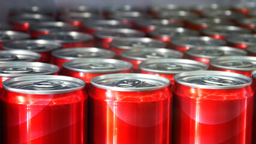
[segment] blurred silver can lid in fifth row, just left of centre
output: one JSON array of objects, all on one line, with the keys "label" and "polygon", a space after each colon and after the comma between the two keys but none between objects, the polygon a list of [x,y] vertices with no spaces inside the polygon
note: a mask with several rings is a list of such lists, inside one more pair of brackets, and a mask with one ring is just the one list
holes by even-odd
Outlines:
[{"label": "blurred silver can lid in fifth row, just left of centre", "polygon": [[127,38],[127,37],[144,37],[144,32],[136,31],[134,29],[103,29],[94,32],[94,36],[99,38]]}]

